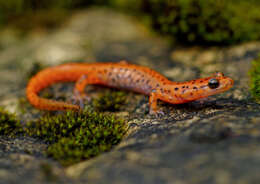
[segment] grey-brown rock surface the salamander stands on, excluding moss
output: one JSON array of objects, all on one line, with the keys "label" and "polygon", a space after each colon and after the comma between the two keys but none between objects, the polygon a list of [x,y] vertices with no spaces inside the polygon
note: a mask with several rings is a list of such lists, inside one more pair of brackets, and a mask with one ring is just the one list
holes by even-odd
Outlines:
[{"label": "grey-brown rock surface the salamander stands on, excluding moss", "polygon": [[[75,13],[63,27],[26,38],[0,33],[0,105],[21,115],[26,73],[33,63],[128,60],[177,81],[222,71],[234,87],[204,102],[160,103],[165,116],[148,115],[148,98],[130,93],[129,132],[112,151],[68,168],[42,155],[32,138],[0,139],[0,183],[230,184],[260,181],[260,105],[248,91],[248,69],[260,43],[225,48],[174,48],[137,20],[105,9]],[[95,88],[94,88],[95,89]],[[99,90],[99,88],[96,88]],[[92,90],[93,91],[93,90]],[[68,91],[71,94],[71,91]],[[92,92],[94,93],[94,92]]]}]

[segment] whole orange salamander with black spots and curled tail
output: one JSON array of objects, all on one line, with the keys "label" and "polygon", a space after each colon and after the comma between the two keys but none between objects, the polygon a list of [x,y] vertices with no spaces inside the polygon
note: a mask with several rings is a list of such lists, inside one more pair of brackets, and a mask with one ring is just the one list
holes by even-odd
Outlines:
[{"label": "whole orange salamander with black spots and curled tail", "polygon": [[[233,80],[221,72],[211,77],[188,82],[172,82],[158,72],[121,61],[119,63],[69,63],[44,69],[32,77],[26,88],[29,102],[42,110],[80,110],[82,107],[67,102],[41,98],[38,93],[57,82],[76,82],[74,95],[86,98],[84,88],[99,84],[149,95],[150,114],[162,113],[157,101],[182,104],[215,95],[230,89]],[[82,104],[82,103],[81,103]]]}]

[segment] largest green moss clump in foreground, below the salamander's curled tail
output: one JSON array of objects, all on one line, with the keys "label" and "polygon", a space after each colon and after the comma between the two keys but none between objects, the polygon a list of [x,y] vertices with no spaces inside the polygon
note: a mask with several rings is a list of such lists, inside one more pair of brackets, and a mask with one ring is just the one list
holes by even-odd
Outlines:
[{"label": "largest green moss clump in foreground, below the salamander's curled tail", "polygon": [[83,111],[47,115],[25,130],[48,142],[47,155],[67,166],[110,150],[124,136],[126,125],[114,116]]}]

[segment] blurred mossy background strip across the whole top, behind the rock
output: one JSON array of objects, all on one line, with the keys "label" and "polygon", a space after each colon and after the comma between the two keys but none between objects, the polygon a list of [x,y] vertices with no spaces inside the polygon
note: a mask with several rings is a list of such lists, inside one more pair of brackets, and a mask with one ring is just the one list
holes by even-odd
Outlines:
[{"label": "blurred mossy background strip across the whole top, behind the rock", "polygon": [[258,0],[1,0],[0,26],[53,29],[73,11],[93,6],[132,14],[182,44],[227,45],[260,38]]}]

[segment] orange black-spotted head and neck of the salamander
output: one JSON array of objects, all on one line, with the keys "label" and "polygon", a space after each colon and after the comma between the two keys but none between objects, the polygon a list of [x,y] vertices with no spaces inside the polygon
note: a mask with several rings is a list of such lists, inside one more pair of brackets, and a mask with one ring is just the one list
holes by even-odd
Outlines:
[{"label": "orange black-spotted head and neck of the salamander", "polygon": [[233,84],[234,81],[231,78],[225,77],[221,72],[216,72],[211,77],[168,85],[167,88],[171,88],[173,98],[162,100],[170,103],[185,103],[227,91]]}]

